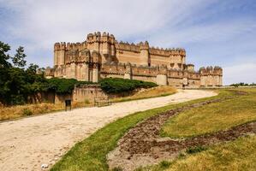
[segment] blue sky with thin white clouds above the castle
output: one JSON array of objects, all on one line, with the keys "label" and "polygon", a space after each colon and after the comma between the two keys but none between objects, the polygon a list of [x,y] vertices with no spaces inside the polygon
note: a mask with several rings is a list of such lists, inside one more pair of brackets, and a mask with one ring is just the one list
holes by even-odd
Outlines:
[{"label": "blue sky with thin white clouds above the castle", "polygon": [[223,83],[256,82],[256,0],[0,0],[0,41],[28,63],[53,66],[53,44],[89,32],[185,48],[196,69],[223,68]]}]

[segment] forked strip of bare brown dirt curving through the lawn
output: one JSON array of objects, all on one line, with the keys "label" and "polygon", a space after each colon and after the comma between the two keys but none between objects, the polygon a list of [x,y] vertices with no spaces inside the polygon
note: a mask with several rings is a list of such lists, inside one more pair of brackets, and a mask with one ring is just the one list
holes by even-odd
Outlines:
[{"label": "forked strip of bare brown dirt curving through the lawn", "polygon": [[208,103],[220,102],[231,97],[195,103],[179,109],[172,109],[163,114],[152,116],[130,129],[118,142],[118,147],[108,155],[110,168],[134,170],[176,157],[181,150],[191,147],[216,144],[237,139],[247,133],[256,133],[256,122],[233,127],[217,133],[205,134],[191,139],[160,138],[159,133],[164,122],[184,110],[203,106]]}]

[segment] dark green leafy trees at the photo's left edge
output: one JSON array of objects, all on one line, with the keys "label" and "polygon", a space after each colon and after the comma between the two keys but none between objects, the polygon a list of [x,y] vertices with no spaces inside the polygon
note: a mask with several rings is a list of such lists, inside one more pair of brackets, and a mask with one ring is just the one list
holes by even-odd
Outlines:
[{"label": "dark green leafy trees at the photo's left edge", "polygon": [[[19,47],[14,57],[9,56],[9,44],[0,42],[0,103],[22,104],[33,93],[43,91],[47,84],[43,74],[36,74],[37,65],[27,69],[24,49]],[[9,62],[12,59],[13,65]]]}]

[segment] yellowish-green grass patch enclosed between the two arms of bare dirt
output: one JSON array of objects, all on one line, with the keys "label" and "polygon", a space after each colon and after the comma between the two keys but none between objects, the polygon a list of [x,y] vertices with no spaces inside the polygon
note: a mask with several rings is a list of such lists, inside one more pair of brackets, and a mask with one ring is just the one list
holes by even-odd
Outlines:
[{"label": "yellowish-green grass patch enclosed between the two arms of bare dirt", "polygon": [[213,133],[256,120],[256,89],[247,95],[211,103],[174,116],[164,124],[163,136],[181,138]]}]

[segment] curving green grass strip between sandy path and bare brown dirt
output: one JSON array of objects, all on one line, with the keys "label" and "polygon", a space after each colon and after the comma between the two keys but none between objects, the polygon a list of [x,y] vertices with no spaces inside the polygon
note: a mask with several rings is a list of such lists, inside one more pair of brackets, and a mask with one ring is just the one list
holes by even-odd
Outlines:
[{"label": "curving green grass strip between sandy path and bare brown dirt", "polygon": [[199,103],[205,101],[206,99],[217,98],[230,94],[232,93],[229,91],[222,91],[216,97],[207,97],[187,103],[172,104],[162,108],[150,109],[135,113],[134,115],[123,117],[122,119],[114,121],[102,129],[99,129],[89,138],[75,144],[74,147],[51,168],[51,171],[108,170],[106,155],[110,152],[110,150],[114,150],[118,139],[122,138],[122,135],[126,133],[129,128],[134,127],[139,121],[149,118],[152,115],[158,115],[159,113],[168,109],[175,109],[188,104]]}]

